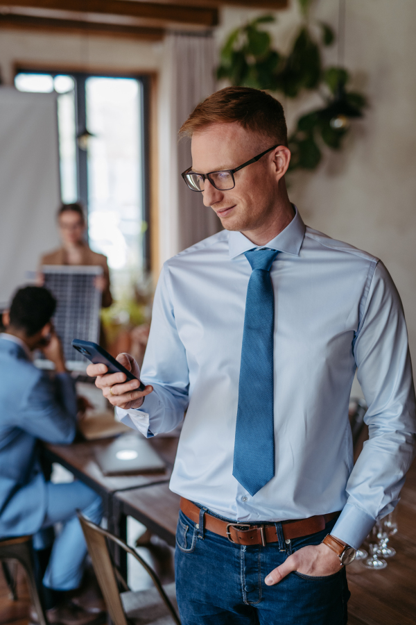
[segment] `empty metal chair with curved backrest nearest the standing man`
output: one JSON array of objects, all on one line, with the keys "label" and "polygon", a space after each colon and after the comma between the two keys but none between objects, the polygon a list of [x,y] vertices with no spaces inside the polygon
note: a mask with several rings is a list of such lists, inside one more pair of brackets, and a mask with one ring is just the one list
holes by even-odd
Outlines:
[{"label": "empty metal chair with curved backrest nearest the standing man", "polygon": [[[128,544],[92,523],[80,512],[78,519],[114,625],[180,625],[180,619],[173,607],[173,603],[176,605],[175,583],[163,587],[153,569]],[[136,558],[152,578],[155,587],[132,592],[112,562],[107,541],[114,542]],[[125,592],[120,592],[120,588]]]}]

